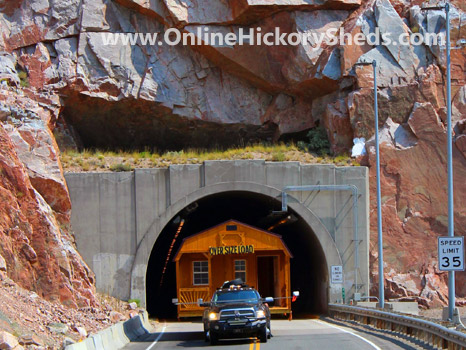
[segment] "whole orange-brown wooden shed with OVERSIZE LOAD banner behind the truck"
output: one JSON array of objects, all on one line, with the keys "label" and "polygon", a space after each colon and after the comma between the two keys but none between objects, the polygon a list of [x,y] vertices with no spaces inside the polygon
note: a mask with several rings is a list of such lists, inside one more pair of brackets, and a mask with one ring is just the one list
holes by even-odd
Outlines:
[{"label": "whole orange-brown wooden shed with OVERSIZE LOAD banner behind the truck", "polygon": [[[178,317],[202,316],[195,303],[207,301],[223,282],[241,278],[262,297],[291,295],[290,258],[280,235],[230,220],[183,240],[174,261]],[[291,300],[277,299],[272,313],[291,312]]]}]

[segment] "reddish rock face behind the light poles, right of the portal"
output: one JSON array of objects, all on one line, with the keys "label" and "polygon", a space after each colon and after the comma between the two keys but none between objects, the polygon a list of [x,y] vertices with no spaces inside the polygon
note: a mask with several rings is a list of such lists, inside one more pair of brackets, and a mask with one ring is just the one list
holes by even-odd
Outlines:
[{"label": "reddish rock face behind the light poles, right of the portal", "polygon": [[[403,133],[411,136],[410,145],[403,146],[406,139]],[[389,296],[419,297],[425,299],[424,305],[440,305],[448,298],[446,285],[441,283],[446,281],[447,274],[438,270],[437,263],[437,237],[447,235],[445,128],[430,103],[416,104],[407,125],[396,126],[391,135],[395,141],[381,145],[385,278],[390,288]],[[403,147],[403,150],[397,150],[397,147]],[[429,155],[428,159],[426,155]],[[373,147],[369,159],[374,165]],[[466,159],[454,148],[453,161],[455,232],[461,235],[466,224]],[[371,166],[370,186],[375,192],[375,171],[372,169]],[[375,201],[376,198],[371,199],[374,211]],[[377,249],[376,242],[377,217],[372,215],[373,252]],[[405,273],[404,281],[400,276],[396,277],[399,273]],[[462,283],[464,275],[464,272],[457,273],[456,293],[459,297],[466,296]],[[424,279],[426,282],[422,282]],[[410,281],[411,287],[406,281]],[[374,287],[374,292],[376,290]]]}]

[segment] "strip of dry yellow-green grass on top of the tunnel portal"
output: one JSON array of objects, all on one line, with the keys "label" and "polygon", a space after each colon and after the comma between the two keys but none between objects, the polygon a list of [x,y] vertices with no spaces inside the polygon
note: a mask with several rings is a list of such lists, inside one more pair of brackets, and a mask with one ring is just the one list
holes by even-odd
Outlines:
[{"label": "strip of dry yellow-green grass on top of the tunnel portal", "polygon": [[172,164],[202,164],[208,160],[264,159],[272,162],[298,161],[304,164],[359,165],[348,155],[318,156],[294,144],[257,144],[227,150],[189,149],[162,154],[145,151],[66,150],[60,156],[67,172],[131,171],[138,168],[166,168]]}]

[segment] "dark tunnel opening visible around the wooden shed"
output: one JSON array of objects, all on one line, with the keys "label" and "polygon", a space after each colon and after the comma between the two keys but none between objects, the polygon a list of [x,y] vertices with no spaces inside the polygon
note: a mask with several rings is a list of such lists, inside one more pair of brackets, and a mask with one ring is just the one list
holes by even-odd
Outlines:
[{"label": "dark tunnel opening visible around the wooden shed", "polygon": [[[155,242],[147,266],[146,300],[150,315],[162,319],[176,318],[176,306],[172,303],[176,298],[173,258],[183,239],[230,219],[263,230],[270,229],[270,232],[282,236],[293,254],[291,290],[300,291],[300,298],[293,304],[293,315],[325,312],[328,270],[322,247],[312,228],[291,208],[286,214],[273,213],[280,208],[281,202],[275,198],[233,191],[204,197],[175,215]],[[270,261],[264,261],[266,263],[270,264]]]}]

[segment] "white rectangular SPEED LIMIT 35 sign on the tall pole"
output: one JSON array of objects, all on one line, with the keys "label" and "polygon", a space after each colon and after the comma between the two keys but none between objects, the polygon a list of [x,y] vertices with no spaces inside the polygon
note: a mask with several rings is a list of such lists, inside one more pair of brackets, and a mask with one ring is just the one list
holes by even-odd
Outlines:
[{"label": "white rectangular SPEED LIMIT 35 sign on the tall pole", "polygon": [[464,237],[438,238],[440,271],[464,271]]}]

